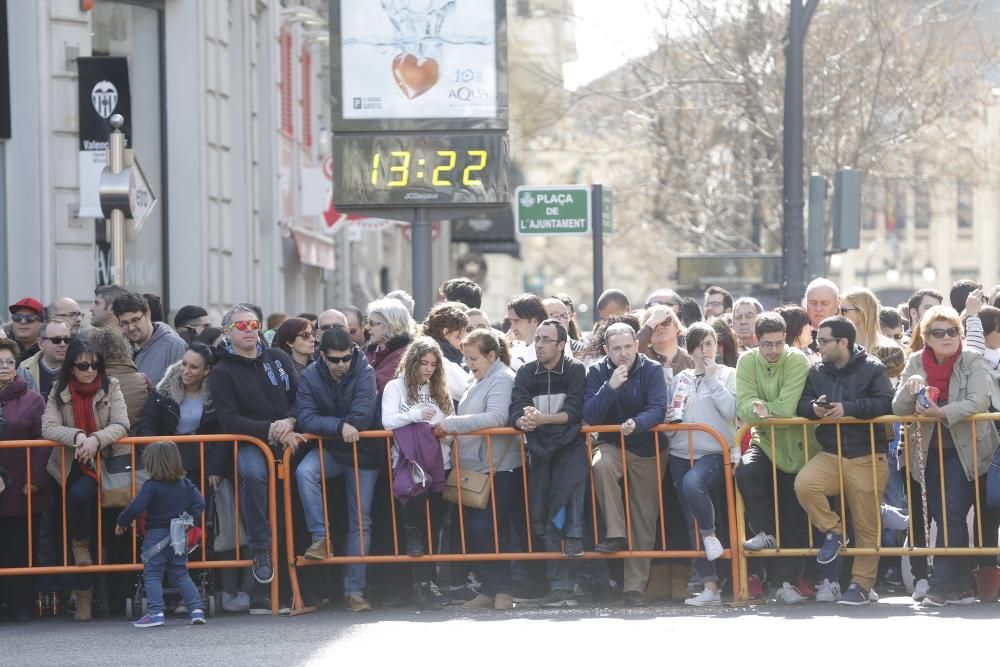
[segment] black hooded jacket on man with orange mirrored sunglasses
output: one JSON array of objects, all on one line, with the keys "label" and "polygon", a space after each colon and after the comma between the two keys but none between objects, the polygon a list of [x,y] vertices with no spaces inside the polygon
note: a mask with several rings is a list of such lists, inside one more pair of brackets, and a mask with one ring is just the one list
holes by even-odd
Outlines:
[{"label": "black hooded jacket on man with orange mirrored sunglasses", "polygon": [[295,364],[285,352],[261,343],[253,359],[233,353],[228,342],[217,352],[219,361],[208,376],[208,388],[222,432],[267,442],[272,422],[296,416]]}]

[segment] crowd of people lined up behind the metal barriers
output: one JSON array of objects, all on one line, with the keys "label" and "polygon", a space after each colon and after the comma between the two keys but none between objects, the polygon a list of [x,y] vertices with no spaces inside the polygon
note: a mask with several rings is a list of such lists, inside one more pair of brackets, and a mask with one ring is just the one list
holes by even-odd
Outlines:
[{"label": "crowd of people lined up behind the metal barriers", "polygon": [[[588,596],[641,605],[649,558],[579,557],[659,549],[703,552],[691,564],[685,602],[714,606],[726,579],[716,561],[726,547],[806,547],[810,525],[818,556],[751,559],[751,592],[787,604],[862,605],[877,600],[876,584],[898,576],[900,563],[870,555],[843,563],[845,545],[890,544],[912,522],[917,529],[908,533],[922,546],[933,522],[937,546],[969,546],[966,519],[975,511],[982,539],[977,533],[974,544],[997,546],[1000,512],[987,507],[985,493],[1000,437],[994,423],[968,417],[1000,408],[1000,288],[986,295],[982,285],[959,281],[947,303],[921,289],[892,307],[865,288],[841,292],[817,279],[801,305],[774,310],[719,287],[701,303],[658,289],[641,308],[608,290],[588,333],[567,295],[517,295],[494,319],[471,280],[446,281],[438,297],[422,322],[413,319],[413,299],[395,291],[363,309],[297,317],[265,319],[258,306],[241,303],[220,327],[199,306],[180,308],[171,326],[155,295],[116,285],[96,290],[86,324],[72,299],[44,308],[21,299],[0,339],[0,438],[57,446],[27,455],[0,448],[0,568],[129,562],[128,527],[138,509],[120,512],[128,501],[141,498],[158,517],[147,521],[145,545],[163,538],[164,513],[200,514],[201,494],[211,498],[236,482],[253,566],[242,583],[239,572],[219,575],[222,607],[270,611],[265,585],[286,568],[271,558],[273,471],[261,449],[241,442],[234,460],[231,445],[181,446],[180,468],[174,452],[154,450],[147,469],[158,472],[143,488],[165,504],[147,507],[151,490],[109,509],[105,491],[102,508],[97,454],[131,456],[130,446],[116,444],[129,434],[252,436],[275,459],[291,449],[296,553],[309,560],[516,553],[529,544],[562,555],[448,567],[427,559],[355,563],[336,581],[328,567],[300,570],[313,579],[304,587],[313,602],[339,596],[350,611],[373,601],[509,609],[524,597],[547,607]],[[886,415],[938,421],[908,434],[898,424],[761,426],[734,442],[741,424],[771,418]],[[653,430],[663,423],[706,425],[724,442],[706,431]],[[588,447],[583,425],[616,429]],[[504,426],[524,434],[523,452],[519,436],[477,433]],[[384,440],[363,437],[372,429],[393,432],[388,456]],[[727,540],[727,463],[746,508],[750,539],[742,546]],[[190,484],[179,485],[181,468]],[[843,501],[831,503],[841,493]],[[99,512],[112,512],[101,539]],[[147,561],[145,548],[146,592],[151,602],[161,599],[142,627],[159,624],[159,582],[184,562],[156,554]],[[933,568],[912,558],[910,567],[914,600],[924,605],[996,598],[993,557],[937,556]],[[379,576],[369,580],[370,568]],[[61,592],[75,601],[77,620],[90,620],[127,597],[127,579],[108,578],[3,577],[0,614],[27,620],[36,595]],[[186,608],[203,622],[189,583],[181,582]],[[287,582],[279,589],[285,606]]]}]

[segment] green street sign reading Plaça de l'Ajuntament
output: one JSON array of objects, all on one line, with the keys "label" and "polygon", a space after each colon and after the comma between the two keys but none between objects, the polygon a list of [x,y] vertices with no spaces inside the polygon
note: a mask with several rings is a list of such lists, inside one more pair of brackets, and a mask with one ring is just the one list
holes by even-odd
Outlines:
[{"label": "green street sign reading Pla\u00e7a de l'Ajuntament", "polygon": [[523,185],[514,191],[521,236],[581,236],[590,233],[590,188],[586,185]]}]

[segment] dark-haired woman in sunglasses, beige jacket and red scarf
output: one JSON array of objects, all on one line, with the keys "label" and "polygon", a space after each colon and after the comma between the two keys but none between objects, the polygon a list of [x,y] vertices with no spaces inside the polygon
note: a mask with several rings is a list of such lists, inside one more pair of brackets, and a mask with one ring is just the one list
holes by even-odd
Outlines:
[{"label": "dark-haired woman in sunglasses, beige jacket and red scarf", "polygon": [[[73,560],[92,565],[91,535],[97,507],[97,453],[128,454],[114,443],[128,435],[128,408],[118,380],[108,377],[104,355],[85,340],[66,352],[58,381],[42,416],[42,437],[62,445],[52,450],[48,471],[66,489],[66,530],[73,540]],[[80,576],[76,620],[91,619],[93,577]]]}]

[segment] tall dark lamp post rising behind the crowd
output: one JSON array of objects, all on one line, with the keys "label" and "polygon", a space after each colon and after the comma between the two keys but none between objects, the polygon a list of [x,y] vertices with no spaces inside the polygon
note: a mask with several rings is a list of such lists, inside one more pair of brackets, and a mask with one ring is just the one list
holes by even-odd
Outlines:
[{"label": "tall dark lamp post rising behind the crowd", "polygon": [[788,16],[788,46],[785,49],[785,120],[782,167],[781,296],[798,301],[805,293],[805,221],[802,198],[802,79],[806,31],[819,0],[791,0]]}]

